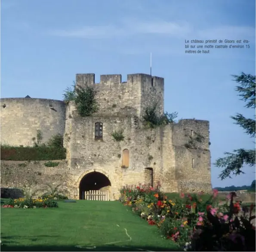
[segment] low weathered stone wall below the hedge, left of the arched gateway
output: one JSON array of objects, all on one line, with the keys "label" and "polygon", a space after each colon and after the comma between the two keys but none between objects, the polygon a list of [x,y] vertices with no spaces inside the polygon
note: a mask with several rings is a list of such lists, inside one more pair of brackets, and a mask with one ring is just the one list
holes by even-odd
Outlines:
[{"label": "low weathered stone wall below the hedge, left of the arched gateway", "polygon": [[65,160],[55,160],[59,165],[46,167],[49,161],[1,161],[1,188],[19,188],[39,196],[49,190],[47,184],[59,185],[69,197],[74,197],[76,187],[73,174]]}]

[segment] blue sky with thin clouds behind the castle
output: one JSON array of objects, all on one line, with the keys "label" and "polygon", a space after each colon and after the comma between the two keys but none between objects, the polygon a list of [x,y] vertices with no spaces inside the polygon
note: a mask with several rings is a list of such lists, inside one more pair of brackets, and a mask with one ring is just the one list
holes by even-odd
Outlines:
[{"label": "blue sky with thin clouds behind the castle", "polygon": [[[250,49],[185,54],[185,39],[247,39]],[[253,139],[230,115],[253,117],[232,74],[255,75],[255,0],[2,0],[1,97],[62,99],[76,73],[165,78],[165,110],[210,121],[212,162]],[[255,167],[213,186],[250,185]]]}]

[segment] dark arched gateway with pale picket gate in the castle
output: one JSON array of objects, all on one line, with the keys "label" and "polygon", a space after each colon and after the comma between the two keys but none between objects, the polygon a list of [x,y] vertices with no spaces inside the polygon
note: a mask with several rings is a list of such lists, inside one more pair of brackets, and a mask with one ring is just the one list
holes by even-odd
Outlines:
[{"label": "dark arched gateway with pale picket gate in the castle", "polygon": [[80,176],[80,200],[110,200],[111,182],[102,171],[90,170]]}]

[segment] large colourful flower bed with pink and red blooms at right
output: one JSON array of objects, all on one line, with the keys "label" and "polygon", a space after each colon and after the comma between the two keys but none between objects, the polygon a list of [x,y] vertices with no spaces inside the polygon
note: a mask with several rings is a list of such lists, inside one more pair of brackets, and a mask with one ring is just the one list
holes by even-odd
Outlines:
[{"label": "large colourful flower bed with pink and red blooms at right", "polygon": [[202,200],[203,193],[181,194],[172,200],[160,191],[160,184],[139,185],[123,188],[120,201],[185,251],[255,251],[253,205],[241,209],[241,202],[234,202],[235,193],[220,204],[217,194],[213,190],[207,200]]}]

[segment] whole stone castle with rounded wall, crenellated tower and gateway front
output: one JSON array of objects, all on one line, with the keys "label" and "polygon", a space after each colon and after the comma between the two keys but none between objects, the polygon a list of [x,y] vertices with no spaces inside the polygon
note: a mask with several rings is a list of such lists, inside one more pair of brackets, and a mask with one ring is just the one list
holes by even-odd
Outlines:
[{"label": "whole stone castle with rounded wall, crenellated tower and gateway front", "polygon": [[[156,128],[142,123],[145,109],[154,102],[157,113],[163,114],[163,78],[129,74],[122,82],[121,75],[102,75],[95,83],[94,74],[77,74],[76,85],[97,91],[99,110],[92,116],[80,117],[73,102],[1,99],[1,144],[32,146],[37,130],[43,142],[61,134],[67,157],[50,173],[68,174],[74,198],[106,188],[114,200],[123,185],[139,183],[160,182],[165,192],[211,190],[209,121],[182,119]],[[112,136],[118,131],[123,132],[122,141]],[[40,162],[30,165],[43,170]]]}]

